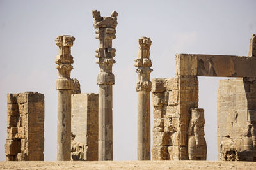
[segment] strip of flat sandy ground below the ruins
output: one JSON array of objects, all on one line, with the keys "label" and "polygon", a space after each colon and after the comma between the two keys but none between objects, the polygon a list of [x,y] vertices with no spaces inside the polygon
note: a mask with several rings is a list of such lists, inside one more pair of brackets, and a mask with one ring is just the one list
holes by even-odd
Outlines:
[{"label": "strip of flat sandy ground below the ruins", "polygon": [[256,162],[0,162],[0,169],[256,169]]}]

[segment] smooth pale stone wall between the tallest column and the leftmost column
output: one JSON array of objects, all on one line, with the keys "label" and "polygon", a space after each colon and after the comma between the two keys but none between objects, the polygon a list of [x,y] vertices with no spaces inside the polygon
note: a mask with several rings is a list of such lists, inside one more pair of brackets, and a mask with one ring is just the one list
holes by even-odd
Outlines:
[{"label": "smooth pale stone wall between the tallest column and the leftmost column", "polygon": [[98,160],[98,94],[71,95],[72,160]]}]

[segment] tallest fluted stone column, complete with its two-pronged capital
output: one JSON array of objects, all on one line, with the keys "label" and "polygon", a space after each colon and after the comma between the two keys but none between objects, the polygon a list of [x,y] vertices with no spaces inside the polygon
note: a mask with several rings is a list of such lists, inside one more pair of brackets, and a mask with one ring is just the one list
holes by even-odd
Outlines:
[{"label": "tallest fluted stone column, complete with its two-pronged capital", "polygon": [[100,40],[96,50],[96,63],[100,73],[97,76],[99,85],[99,161],[113,160],[113,126],[112,126],[112,85],[115,83],[112,65],[115,63],[115,48],[112,48],[112,39],[115,39],[117,15],[101,17],[97,10],[92,11],[93,26],[96,29],[96,39]]}]

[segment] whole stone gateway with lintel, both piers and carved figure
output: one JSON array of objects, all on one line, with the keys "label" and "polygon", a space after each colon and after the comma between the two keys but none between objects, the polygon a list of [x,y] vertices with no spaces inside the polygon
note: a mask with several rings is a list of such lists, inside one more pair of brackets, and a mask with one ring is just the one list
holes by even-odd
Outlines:
[{"label": "whole stone gateway with lintel, both piers and carved figure", "polygon": [[255,41],[248,57],[177,54],[175,78],[152,79],[153,160],[206,160],[197,76],[238,77],[219,83],[219,160],[256,160]]}]

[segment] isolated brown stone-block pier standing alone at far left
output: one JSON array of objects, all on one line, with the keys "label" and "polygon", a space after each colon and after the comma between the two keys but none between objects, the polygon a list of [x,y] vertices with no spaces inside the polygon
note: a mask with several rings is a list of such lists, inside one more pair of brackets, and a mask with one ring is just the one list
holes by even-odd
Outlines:
[{"label": "isolated brown stone-block pier standing alone at far left", "polygon": [[44,95],[7,94],[6,160],[44,160]]}]

